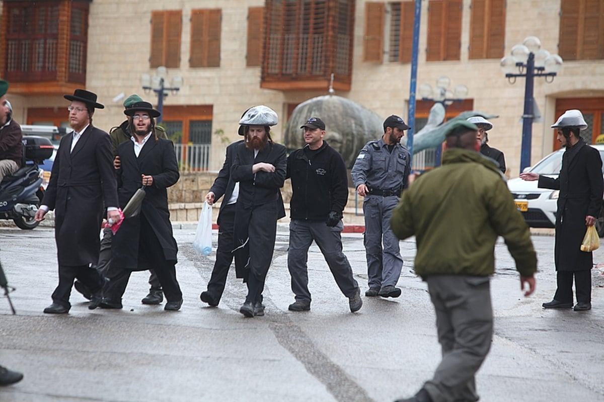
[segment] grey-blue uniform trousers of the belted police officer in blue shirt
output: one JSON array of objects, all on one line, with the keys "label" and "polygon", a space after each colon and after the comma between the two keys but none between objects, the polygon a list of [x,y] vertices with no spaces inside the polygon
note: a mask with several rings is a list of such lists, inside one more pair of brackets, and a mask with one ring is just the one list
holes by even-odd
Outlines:
[{"label": "grey-blue uniform trousers of the belted police officer in blue shirt", "polygon": [[396,286],[399,281],[403,258],[400,256],[399,239],[390,229],[392,211],[398,203],[398,197],[382,196],[368,196],[363,202],[369,287]]}]

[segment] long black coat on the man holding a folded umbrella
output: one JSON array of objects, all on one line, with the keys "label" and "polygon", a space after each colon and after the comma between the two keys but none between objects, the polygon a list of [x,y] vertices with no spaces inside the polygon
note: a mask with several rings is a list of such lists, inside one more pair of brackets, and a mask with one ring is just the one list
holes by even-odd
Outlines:
[{"label": "long black coat on the man holding a folded umbrella", "polygon": [[149,222],[159,240],[164,257],[176,261],[178,246],[172,234],[167,188],[178,182],[178,162],[172,141],[150,136],[141,153],[134,153],[134,143],[126,141],[117,148],[121,166],[118,169],[118,197],[123,209],[143,185],[141,175],[153,176],[153,184],[145,188],[146,196],[138,215],[124,219],[112,243],[112,264],[130,270],[149,269],[149,261],[139,255],[141,215]]}]

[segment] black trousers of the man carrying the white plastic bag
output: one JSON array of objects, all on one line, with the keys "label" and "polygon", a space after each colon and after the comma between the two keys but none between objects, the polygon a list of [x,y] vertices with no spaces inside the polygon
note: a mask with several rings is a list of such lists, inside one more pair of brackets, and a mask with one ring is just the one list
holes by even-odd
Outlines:
[{"label": "black trousers of the man carrying the white plastic bag", "polygon": [[219,302],[225,290],[226,276],[233,263],[233,230],[235,225],[235,205],[225,205],[220,211],[220,228],[218,231],[218,247],[216,249],[216,262],[212,269],[208,292]]}]

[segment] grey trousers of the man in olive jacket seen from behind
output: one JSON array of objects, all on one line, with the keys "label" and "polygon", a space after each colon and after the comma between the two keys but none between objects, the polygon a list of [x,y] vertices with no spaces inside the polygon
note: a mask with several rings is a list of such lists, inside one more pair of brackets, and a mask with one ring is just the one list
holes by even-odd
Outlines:
[{"label": "grey trousers of the man in olive jacket seen from behind", "polygon": [[477,401],[474,375],[489,354],[493,337],[489,277],[429,275],[425,281],[443,359],[423,388],[434,402]]}]

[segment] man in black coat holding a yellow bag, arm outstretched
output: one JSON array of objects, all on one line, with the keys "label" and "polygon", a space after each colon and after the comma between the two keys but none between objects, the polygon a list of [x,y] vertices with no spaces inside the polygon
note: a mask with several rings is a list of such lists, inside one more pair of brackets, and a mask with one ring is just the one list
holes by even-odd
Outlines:
[{"label": "man in black coat holding a yellow bag, arm outstretched", "polygon": [[566,151],[556,179],[537,173],[521,173],[521,179],[539,180],[539,187],[560,190],[556,213],[557,289],[554,299],[544,308],[573,307],[573,276],[577,296],[575,311],[591,309],[591,252],[580,250],[587,226],[593,226],[602,208],[602,159],[579,135],[587,124],[579,110],[567,110],[554,124],[557,140]]}]

